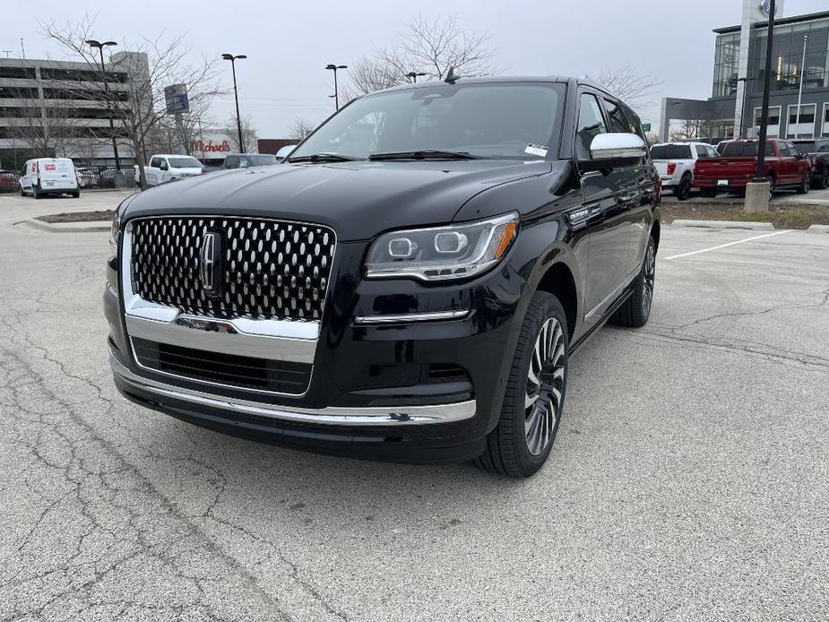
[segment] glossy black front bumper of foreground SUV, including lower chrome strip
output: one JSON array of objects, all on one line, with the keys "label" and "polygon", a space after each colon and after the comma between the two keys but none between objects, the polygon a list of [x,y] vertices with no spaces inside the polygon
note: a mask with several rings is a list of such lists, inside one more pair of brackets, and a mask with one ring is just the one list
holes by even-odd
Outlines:
[{"label": "glossy black front bumper of foreground SUV, including lower chrome strip", "polygon": [[[359,273],[365,252],[366,243],[338,246],[324,319],[307,354],[313,372],[307,391],[297,395],[217,387],[139,367],[131,344],[135,323],[125,317],[122,292],[108,285],[104,307],[118,390],[206,428],[311,451],[394,462],[479,455],[500,415],[520,328],[522,277],[505,262],[461,285],[367,281]],[[110,283],[118,282],[116,265],[108,264]],[[427,378],[446,365],[462,368],[466,379]]]}]

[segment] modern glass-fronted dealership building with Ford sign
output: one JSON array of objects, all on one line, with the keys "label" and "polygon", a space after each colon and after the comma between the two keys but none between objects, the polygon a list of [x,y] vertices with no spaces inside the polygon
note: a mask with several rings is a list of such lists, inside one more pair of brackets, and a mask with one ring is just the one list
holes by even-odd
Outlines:
[{"label": "modern glass-fronted dealership building with Ford sign", "polygon": [[[742,27],[714,30],[712,96],[709,99],[662,100],[661,138],[669,125],[694,119],[704,136],[753,138],[758,132],[763,100],[768,23],[756,22],[749,37]],[[748,42],[741,71],[740,48]],[[804,56],[805,48],[805,56]],[[743,73],[743,75],[741,75]],[[803,85],[798,115],[800,85]],[[829,12],[778,18],[774,26],[769,136],[829,137]]]}]

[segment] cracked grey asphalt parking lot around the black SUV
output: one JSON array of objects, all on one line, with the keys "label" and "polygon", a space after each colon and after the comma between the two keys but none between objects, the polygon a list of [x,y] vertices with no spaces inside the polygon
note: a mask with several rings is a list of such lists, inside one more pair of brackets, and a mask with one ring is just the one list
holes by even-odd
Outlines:
[{"label": "cracked grey asphalt parking lot around the black SUV", "polygon": [[107,234],[13,224],[116,203],[0,195],[0,620],[829,618],[829,235],[665,227],[514,481],[120,398]]}]

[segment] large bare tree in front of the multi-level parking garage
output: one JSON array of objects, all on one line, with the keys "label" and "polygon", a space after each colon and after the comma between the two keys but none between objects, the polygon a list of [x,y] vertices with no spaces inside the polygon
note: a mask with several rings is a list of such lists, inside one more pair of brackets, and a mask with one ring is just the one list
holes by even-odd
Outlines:
[{"label": "large bare tree in front of the multi-level parking garage", "polygon": [[[188,64],[190,48],[180,37],[125,42],[123,45],[130,53],[113,55],[109,68],[102,70],[95,50],[86,44],[93,38],[94,22],[89,16],[63,27],[55,22],[43,22],[40,26],[48,38],[88,65],[94,79],[67,87],[82,91],[83,99],[97,100],[111,111],[117,119],[117,136],[132,148],[142,187],[147,186],[143,167],[145,143],[167,115],[164,87],[185,84],[191,106],[206,104],[222,92],[215,61],[203,58],[196,65]],[[114,72],[127,77],[109,88]]]}]

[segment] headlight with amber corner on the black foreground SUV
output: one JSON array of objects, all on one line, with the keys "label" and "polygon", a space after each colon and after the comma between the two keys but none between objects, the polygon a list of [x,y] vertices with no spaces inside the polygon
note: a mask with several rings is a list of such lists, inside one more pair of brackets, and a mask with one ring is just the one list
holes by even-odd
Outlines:
[{"label": "headlight with amber corner on the black foreground SUV", "polygon": [[518,214],[434,229],[384,233],[368,250],[369,279],[463,279],[486,272],[506,254],[518,232]]}]

